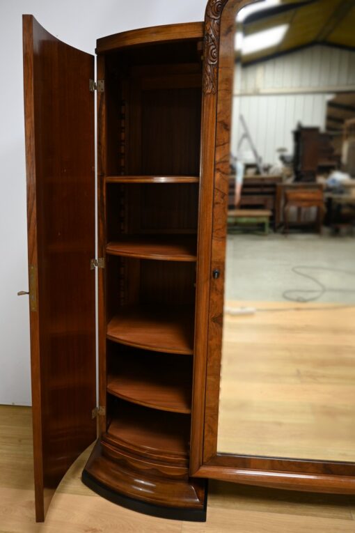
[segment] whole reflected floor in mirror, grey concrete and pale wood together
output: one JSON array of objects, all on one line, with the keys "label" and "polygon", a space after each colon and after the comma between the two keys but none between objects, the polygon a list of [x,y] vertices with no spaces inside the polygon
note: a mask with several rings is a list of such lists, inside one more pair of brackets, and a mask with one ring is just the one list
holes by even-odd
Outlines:
[{"label": "whole reflected floor in mirror, grey concrete and pale wood together", "polygon": [[218,451],[355,461],[354,239],[228,235],[227,257]]}]

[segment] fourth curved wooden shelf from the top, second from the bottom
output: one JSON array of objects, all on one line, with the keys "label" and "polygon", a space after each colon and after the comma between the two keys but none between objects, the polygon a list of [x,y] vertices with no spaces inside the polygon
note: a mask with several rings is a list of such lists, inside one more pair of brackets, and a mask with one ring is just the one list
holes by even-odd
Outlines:
[{"label": "fourth curved wooden shelf from the top, second from the bottom", "polygon": [[153,409],[191,413],[192,365],[189,357],[123,354],[112,364],[107,392]]}]

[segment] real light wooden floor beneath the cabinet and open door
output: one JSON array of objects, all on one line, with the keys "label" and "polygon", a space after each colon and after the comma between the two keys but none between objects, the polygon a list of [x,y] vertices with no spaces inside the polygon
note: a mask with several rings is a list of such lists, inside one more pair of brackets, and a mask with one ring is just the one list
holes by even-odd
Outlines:
[{"label": "real light wooden floor beneath the cabinet and open door", "polygon": [[210,482],[207,523],[143,516],[81,484],[87,450],[34,521],[31,410],[0,406],[0,533],[355,533],[355,499]]}]

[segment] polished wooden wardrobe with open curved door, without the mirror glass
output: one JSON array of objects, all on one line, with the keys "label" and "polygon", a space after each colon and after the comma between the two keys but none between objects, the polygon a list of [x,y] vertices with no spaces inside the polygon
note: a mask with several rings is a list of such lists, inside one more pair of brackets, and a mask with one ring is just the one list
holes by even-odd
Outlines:
[{"label": "polished wooden wardrobe with open curved door, without the mirror glass", "polygon": [[97,81],[93,56],[24,15],[37,520],[97,436],[84,483],[157,516],[204,520],[207,477],[354,492],[351,467],[216,453],[234,26],[246,3],[210,0],[205,26],[99,39]]}]

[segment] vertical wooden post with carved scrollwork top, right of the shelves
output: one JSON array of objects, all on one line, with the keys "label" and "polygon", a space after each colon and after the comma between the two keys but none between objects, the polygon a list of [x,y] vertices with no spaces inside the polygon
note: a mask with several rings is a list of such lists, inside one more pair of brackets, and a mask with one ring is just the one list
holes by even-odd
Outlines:
[{"label": "vertical wooden post with carved scrollwork top, right of the shelves", "polygon": [[[214,204],[214,153],[216,148],[217,95],[214,91],[214,69],[218,64],[219,18],[226,0],[209,1],[205,13],[205,48],[203,63],[203,103],[201,125],[201,176],[198,210],[198,262],[196,272],[196,325],[194,356],[194,390],[191,423],[190,472],[197,472],[203,464],[205,433],[205,392],[207,373],[207,349],[209,346],[210,285],[214,268],[220,263],[211,262],[211,241]],[[230,24],[232,20],[230,18]],[[213,302],[212,302],[213,303]],[[217,319],[218,320],[218,319]],[[218,350],[218,347],[217,347]],[[215,377],[218,387],[219,377]],[[218,404],[218,399],[212,399]],[[214,405],[216,408],[216,405]],[[207,443],[208,445],[208,443]]]}]

